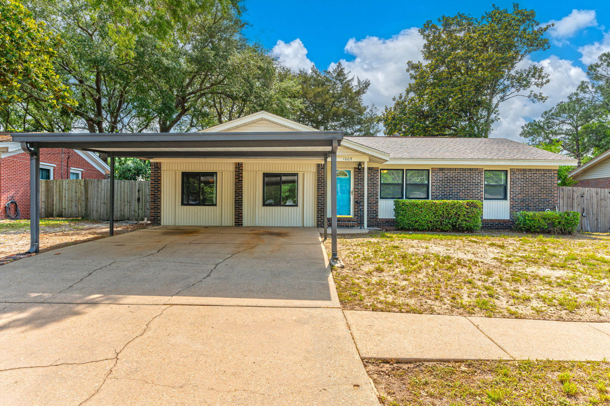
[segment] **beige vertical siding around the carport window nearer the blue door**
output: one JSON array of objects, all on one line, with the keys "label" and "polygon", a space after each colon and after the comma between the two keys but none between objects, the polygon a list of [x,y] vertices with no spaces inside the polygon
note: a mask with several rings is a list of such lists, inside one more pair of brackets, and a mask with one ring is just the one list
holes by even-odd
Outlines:
[{"label": "beige vertical siding around the carport window nearer the blue door", "polygon": [[[244,226],[315,226],[315,163],[246,162],[243,171]],[[298,207],[264,207],[263,173],[298,174]]]}]

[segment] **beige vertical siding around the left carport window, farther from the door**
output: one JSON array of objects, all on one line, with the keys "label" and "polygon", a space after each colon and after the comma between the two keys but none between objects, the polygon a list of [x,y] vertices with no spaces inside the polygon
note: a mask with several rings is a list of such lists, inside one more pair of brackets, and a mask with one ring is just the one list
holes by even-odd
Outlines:
[{"label": "beige vertical siding around the left carport window, farther from the door", "polygon": [[[182,206],[182,172],[217,172],[215,206]],[[162,162],[161,224],[168,226],[232,226],[234,163]]]}]

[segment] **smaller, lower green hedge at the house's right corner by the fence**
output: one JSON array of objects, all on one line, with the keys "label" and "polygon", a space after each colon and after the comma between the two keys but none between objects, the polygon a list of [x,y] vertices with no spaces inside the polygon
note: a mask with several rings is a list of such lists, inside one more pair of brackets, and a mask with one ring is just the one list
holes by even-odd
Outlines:
[{"label": "smaller, lower green hedge at the house's right corner by the fence", "polygon": [[578,227],[577,212],[519,212],[515,214],[515,230],[526,233],[572,234]]}]

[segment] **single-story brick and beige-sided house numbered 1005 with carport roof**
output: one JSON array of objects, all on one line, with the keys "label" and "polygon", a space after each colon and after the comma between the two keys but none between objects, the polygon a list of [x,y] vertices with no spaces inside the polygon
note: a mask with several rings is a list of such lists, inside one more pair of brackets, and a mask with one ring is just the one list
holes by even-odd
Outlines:
[{"label": "single-story brick and beige-sided house numbered 1005 with carport roof", "polygon": [[504,138],[344,137],[268,112],[192,133],[14,136],[34,155],[149,159],[163,225],[323,227],[336,208],[338,226],[392,227],[395,199],[476,199],[484,227],[506,229],[520,210],[556,210],[557,169],[575,163]]}]

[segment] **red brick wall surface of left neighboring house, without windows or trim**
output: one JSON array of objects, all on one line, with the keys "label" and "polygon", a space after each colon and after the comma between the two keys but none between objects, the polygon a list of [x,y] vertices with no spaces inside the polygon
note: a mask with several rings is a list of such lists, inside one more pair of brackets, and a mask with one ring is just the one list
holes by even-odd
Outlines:
[{"label": "red brick wall surface of left neighboring house, without windows or trim", "polygon": [[[100,172],[85,158],[73,149],[41,148],[40,163],[55,165],[52,169],[53,179],[70,179],[70,169],[83,169],[82,179],[104,179],[106,174]],[[10,155],[0,158],[0,219],[7,218],[4,204],[9,196],[14,196],[22,219],[30,218],[30,155]]]}]

